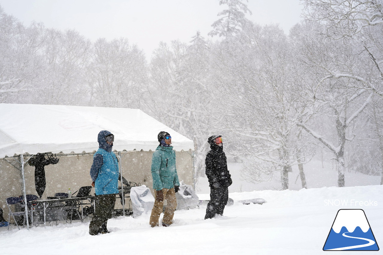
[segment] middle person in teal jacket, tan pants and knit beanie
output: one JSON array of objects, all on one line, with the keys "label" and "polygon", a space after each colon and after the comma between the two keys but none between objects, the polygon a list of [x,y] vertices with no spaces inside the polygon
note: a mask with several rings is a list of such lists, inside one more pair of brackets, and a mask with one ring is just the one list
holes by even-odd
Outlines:
[{"label": "middle person in teal jacket, tan pants and knit beanie", "polygon": [[150,216],[151,227],[159,226],[160,214],[163,211],[164,200],[167,206],[162,219],[162,226],[168,227],[173,223],[177,200],[175,192],[178,192],[177,169],[175,167],[175,151],[173,150],[172,136],[168,132],[161,131],[158,136],[160,145],[155,149],[152,156],[153,189],[155,190],[155,202]]}]

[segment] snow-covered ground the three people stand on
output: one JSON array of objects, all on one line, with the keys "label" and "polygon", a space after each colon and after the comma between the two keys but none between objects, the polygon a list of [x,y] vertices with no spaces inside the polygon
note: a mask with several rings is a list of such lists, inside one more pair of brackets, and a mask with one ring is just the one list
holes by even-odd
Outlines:
[{"label": "snow-covered ground the three people stand on", "polygon": [[[231,189],[259,188],[245,185],[238,169],[230,163],[234,184]],[[314,163],[315,164],[315,163]],[[236,172],[235,170],[238,170]],[[310,170],[308,170],[310,171]],[[327,174],[332,169],[322,170]],[[319,172],[319,171],[317,171]],[[290,174],[290,177],[295,173]],[[360,185],[378,182],[380,177],[347,173]],[[308,185],[311,178],[308,175]],[[317,182],[334,182],[330,178]],[[200,199],[208,199],[206,180],[200,180]],[[295,179],[294,179],[295,181]],[[336,179],[335,179],[336,183]],[[277,184],[260,184],[277,185]],[[297,184],[294,184],[297,185]],[[293,186],[294,186],[293,185]],[[335,185],[335,184],[334,184]],[[309,186],[310,187],[310,186]],[[278,187],[277,187],[278,188]],[[292,187],[292,189],[298,189]],[[254,190],[254,189],[253,189]],[[205,192],[205,193],[203,193]],[[0,254],[322,254],[322,248],[339,209],[363,209],[378,245],[383,245],[383,186],[322,187],[301,190],[233,192],[234,205],[224,216],[204,220],[206,204],[175,212],[170,227],[151,228],[149,215],[110,219],[110,234],[90,236],[90,219],[84,223],[59,223],[47,227],[7,231],[0,228]],[[264,198],[263,205],[243,205],[240,200]],[[342,254],[354,254],[345,252]],[[363,254],[363,252],[362,252]]]}]

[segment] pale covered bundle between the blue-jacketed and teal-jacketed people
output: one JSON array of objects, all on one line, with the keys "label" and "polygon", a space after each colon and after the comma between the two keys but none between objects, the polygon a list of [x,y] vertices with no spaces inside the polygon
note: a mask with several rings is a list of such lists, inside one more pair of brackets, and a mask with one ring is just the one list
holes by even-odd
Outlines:
[{"label": "pale covered bundle between the blue-jacketed and teal-jacketed people", "polygon": [[133,206],[133,218],[148,213],[154,206],[154,197],[145,185],[130,189],[130,200]]}]

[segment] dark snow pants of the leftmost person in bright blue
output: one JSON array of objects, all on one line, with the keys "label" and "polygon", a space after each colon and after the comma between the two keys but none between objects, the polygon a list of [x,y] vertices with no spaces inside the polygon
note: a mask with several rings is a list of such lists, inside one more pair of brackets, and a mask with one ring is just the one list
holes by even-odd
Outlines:
[{"label": "dark snow pants of the leftmost person in bright blue", "polygon": [[107,233],[106,223],[112,218],[115,209],[116,194],[97,195],[96,209],[89,224],[89,234],[95,236],[100,233]]}]

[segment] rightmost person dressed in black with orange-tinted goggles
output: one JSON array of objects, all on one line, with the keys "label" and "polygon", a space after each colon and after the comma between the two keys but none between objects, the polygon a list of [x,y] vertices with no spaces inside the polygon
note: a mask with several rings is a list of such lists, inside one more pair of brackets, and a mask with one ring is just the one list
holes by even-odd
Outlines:
[{"label": "rightmost person dressed in black with orange-tinted goggles", "polygon": [[226,155],[223,152],[222,136],[210,136],[208,143],[211,150],[206,155],[205,165],[210,186],[210,201],[206,208],[205,219],[211,219],[216,214],[223,215],[229,198],[228,187],[232,184]]}]

